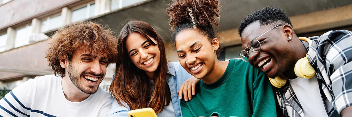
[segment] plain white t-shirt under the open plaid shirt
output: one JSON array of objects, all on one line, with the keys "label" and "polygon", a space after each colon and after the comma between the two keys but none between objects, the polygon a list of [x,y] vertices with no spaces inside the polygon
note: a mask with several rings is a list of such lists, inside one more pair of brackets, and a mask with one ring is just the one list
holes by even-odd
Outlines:
[{"label": "plain white t-shirt under the open plaid shirt", "polygon": [[290,84],[302,105],[304,117],[328,117],[316,76],[310,79],[295,78],[290,80]]}]

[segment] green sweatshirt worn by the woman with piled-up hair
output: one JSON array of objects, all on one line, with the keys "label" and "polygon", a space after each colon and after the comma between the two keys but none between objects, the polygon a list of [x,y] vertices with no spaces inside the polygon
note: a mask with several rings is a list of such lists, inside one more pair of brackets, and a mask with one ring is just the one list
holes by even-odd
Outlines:
[{"label": "green sweatshirt worn by the woman with piled-up hair", "polygon": [[183,117],[276,117],[268,77],[241,59],[230,60],[215,83],[200,80],[192,99],[182,99],[181,109]]}]

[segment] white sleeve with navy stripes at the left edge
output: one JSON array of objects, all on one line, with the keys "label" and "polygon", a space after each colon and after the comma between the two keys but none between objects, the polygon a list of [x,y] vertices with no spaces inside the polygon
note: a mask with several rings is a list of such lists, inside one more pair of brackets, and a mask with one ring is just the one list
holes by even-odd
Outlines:
[{"label": "white sleeve with navy stripes at the left edge", "polygon": [[7,93],[0,100],[0,115],[4,117],[27,117],[30,115],[31,105],[28,100],[33,90],[36,87],[34,79],[22,83]]}]

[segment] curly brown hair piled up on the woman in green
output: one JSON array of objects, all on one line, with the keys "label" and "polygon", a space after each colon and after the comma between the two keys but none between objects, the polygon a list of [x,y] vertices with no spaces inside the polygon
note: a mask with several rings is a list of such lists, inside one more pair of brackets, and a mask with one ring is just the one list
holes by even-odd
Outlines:
[{"label": "curly brown hair piled up on the woman in green", "polygon": [[[208,36],[209,41],[215,38],[213,25],[218,26],[221,4],[219,0],[175,0],[166,10],[171,26],[171,38],[188,29],[195,29]],[[219,56],[222,46],[216,51]]]}]

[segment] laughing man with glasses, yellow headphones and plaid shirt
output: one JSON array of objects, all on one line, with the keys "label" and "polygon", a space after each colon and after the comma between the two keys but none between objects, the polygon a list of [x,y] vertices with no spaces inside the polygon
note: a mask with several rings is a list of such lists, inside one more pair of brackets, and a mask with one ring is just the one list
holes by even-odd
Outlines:
[{"label": "laughing man with glasses, yellow headphones and plaid shirt", "polygon": [[352,116],[351,31],[298,38],[284,11],[266,7],[248,15],[238,32],[240,58],[277,87],[278,116]]}]

